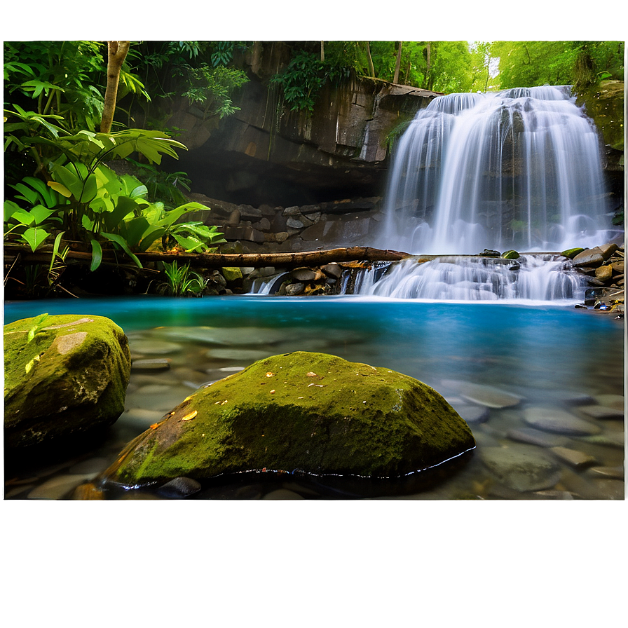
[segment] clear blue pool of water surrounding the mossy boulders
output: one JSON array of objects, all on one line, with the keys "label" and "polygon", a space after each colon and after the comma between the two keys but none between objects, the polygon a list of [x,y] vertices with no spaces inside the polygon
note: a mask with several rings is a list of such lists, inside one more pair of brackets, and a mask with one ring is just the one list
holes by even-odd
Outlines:
[{"label": "clear blue pool of water surrounding the mossy boulders", "polygon": [[[245,367],[265,355],[311,350],[408,374],[442,392],[454,407],[460,398],[451,381],[490,385],[522,397],[516,407],[489,408],[482,422],[470,423],[478,447],[463,470],[437,489],[407,498],[623,496],[622,480],[564,462],[558,462],[560,473],[545,492],[521,491],[493,475],[482,461],[487,447],[524,449],[552,458],[547,446],[522,444],[508,436],[514,429],[530,427],[524,423],[527,407],[544,405],[566,409],[599,428],[594,439],[564,439],[564,446],[594,457],[589,467],[623,464],[624,422],[581,416],[580,406],[567,401],[570,396],[624,394],[624,326],[612,315],[566,306],[359,296],[135,296],[6,303],[4,322],[42,312],[106,315],[125,329],[134,358],[162,357],[151,353],[151,346],[175,343],[175,348],[163,355],[171,360],[170,370],[132,372],[126,411],[111,428],[109,442],[93,453],[95,456],[109,456],[113,461],[125,442],[155,421],[151,416],[165,414],[189,395],[191,388],[233,372],[226,369]],[[67,474],[72,462],[55,473]],[[32,475],[35,487],[44,481],[36,479],[41,475],[38,470],[32,470]],[[47,475],[46,481],[50,477]],[[33,488],[26,486],[20,492],[19,486],[11,488],[16,498],[27,496]],[[294,483],[289,487],[298,490]],[[250,494],[261,496],[263,491],[258,489]]]}]

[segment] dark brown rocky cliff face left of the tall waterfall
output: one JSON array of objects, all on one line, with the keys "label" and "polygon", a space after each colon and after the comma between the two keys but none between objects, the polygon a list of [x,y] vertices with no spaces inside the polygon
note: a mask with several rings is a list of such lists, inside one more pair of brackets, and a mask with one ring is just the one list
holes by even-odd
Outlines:
[{"label": "dark brown rocky cliff face left of the tall waterfall", "polygon": [[234,98],[240,110],[219,123],[179,102],[167,124],[185,129],[177,139],[190,150],[176,168],[189,173],[195,191],[233,203],[302,205],[381,194],[388,135],[438,94],[350,78],[325,85],[313,114],[289,111],[268,83],[288,53],[282,42],[250,53],[250,81]]}]

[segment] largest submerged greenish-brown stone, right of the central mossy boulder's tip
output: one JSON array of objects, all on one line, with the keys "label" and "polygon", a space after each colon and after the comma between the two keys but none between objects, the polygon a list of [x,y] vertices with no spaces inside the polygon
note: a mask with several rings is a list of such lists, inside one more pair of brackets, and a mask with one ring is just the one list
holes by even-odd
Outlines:
[{"label": "largest submerged greenish-brown stone, right of the central mossy boulder's tip", "polygon": [[537,451],[487,447],[479,456],[502,484],[520,492],[549,489],[561,475],[559,465]]}]

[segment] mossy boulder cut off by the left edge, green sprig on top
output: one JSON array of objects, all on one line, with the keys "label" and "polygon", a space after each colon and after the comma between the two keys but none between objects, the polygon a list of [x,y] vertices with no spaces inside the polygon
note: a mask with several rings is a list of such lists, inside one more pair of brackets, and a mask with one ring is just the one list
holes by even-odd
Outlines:
[{"label": "mossy boulder cut off by the left edge, green sprig on top", "polygon": [[130,364],[123,330],[102,316],[42,315],[5,325],[7,458],[63,448],[114,423]]}]

